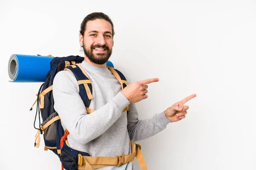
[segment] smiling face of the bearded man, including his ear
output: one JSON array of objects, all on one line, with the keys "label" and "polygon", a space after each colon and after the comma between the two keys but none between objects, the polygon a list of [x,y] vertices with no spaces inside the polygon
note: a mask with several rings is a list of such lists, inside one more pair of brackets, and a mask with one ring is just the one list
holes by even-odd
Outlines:
[{"label": "smiling face of the bearded man, including his ear", "polygon": [[104,64],[112,53],[113,37],[112,26],[106,20],[88,21],[84,37],[80,34],[80,45],[83,45],[84,54],[91,62]]}]

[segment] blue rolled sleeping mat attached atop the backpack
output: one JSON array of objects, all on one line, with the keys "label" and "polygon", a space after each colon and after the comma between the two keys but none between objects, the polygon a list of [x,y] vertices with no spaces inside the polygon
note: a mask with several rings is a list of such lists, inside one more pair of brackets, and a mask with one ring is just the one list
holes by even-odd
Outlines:
[{"label": "blue rolled sleeping mat attached atop the backpack", "polygon": [[[68,56],[74,61],[82,62],[84,57]],[[45,82],[54,62],[65,60],[65,57],[52,57],[40,55],[12,54],[8,63],[9,82]],[[111,61],[107,65],[114,67]]]}]

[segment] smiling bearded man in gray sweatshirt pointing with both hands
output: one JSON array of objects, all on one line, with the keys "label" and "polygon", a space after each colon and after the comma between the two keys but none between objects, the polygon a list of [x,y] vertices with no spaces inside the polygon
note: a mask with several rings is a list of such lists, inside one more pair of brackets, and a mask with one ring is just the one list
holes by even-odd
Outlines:
[{"label": "smiling bearded man in gray sweatshirt pointing with both hands", "polygon": [[[53,82],[54,108],[64,129],[70,132],[70,147],[87,152],[90,156],[115,157],[131,154],[131,141],[153,136],[170,122],[185,118],[188,106],[184,105],[193,94],[175,103],[151,119],[138,119],[136,102],[146,99],[149,83],[159,79],[146,79],[130,83],[121,89],[116,77],[106,67],[112,53],[114,29],[111,19],[103,13],[87,15],[81,23],[79,43],[84,49],[84,61],[80,64],[90,77],[93,99],[87,114],[79,96],[76,78],[69,71],[60,71]],[[129,105],[129,111],[123,109]],[[104,170],[132,170],[132,162],[121,166],[110,165]]]}]

